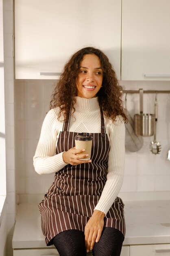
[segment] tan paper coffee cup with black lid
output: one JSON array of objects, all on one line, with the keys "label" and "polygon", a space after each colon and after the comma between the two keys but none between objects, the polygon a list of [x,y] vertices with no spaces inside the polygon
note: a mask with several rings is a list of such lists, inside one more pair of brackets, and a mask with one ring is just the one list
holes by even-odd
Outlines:
[{"label": "tan paper coffee cup with black lid", "polygon": [[76,149],[85,149],[84,152],[82,152],[81,154],[77,154],[77,155],[85,155],[88,154],[88,157],[82,158],[80,160],[89,160],[91,157],[91,151],[92,151],[92,140],[93,137],[90,133],[78,133],[78,135],[76,135],[74,137],[75,139],[75,146]]}]

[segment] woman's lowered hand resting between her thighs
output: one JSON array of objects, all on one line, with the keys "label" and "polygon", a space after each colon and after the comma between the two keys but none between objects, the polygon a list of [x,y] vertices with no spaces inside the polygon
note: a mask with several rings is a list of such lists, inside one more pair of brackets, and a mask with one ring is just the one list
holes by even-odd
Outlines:
[{"label": "woman's lowered hand resting between her thighs", "polygon": [[85,246],[86,251],[92,250],[94,243],[98,243],[104,226],[105,213],[94,210],[92,217],[85,225]]}]

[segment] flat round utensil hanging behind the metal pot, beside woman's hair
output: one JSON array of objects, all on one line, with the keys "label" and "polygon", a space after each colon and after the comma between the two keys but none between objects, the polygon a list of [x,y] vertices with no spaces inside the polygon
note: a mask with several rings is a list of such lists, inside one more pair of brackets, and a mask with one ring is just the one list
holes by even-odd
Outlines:
[{"label": "flat round utensil hanging behind the metal pot, beside woman's hair", "polygon": [[[127,93],[126,93],[126,96],[127,96]],[[129,114],[129,111],[127,110],[126,96],[125,96],[125,108],[126,108],[126,117],[128,119],[128,123],[125,124],[125,148],[128,151],[136,152],[140,148],[142,148],[143,138],[142,136],[137,136],[134,132],[134,121],[131,115]]]}]

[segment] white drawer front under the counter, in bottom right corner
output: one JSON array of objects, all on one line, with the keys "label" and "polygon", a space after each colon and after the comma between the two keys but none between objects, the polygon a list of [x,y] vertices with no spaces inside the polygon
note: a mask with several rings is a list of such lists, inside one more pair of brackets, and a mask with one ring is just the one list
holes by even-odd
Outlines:
[{"label": "white drawer front under the counter, in bottom right corner", "polygon": [[132,245],[130,256],[170,256],[170,244]]}]

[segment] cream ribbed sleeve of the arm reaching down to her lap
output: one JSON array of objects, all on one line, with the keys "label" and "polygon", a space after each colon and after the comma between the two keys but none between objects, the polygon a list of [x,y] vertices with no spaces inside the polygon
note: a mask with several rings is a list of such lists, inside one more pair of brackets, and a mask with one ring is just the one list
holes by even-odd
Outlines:
[{"label": "cream ribbed sleeve of the arm reaching down to her lap", "polygon": [[125,159],[125,126],[123,121],[109,126],[110,152],[108,159],[107,181],[102,191],[100,200],[95,207],[107,214],[121,189],[124,176]]}]

